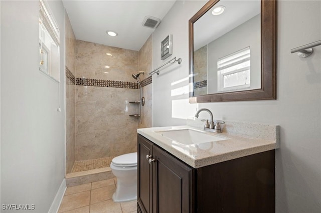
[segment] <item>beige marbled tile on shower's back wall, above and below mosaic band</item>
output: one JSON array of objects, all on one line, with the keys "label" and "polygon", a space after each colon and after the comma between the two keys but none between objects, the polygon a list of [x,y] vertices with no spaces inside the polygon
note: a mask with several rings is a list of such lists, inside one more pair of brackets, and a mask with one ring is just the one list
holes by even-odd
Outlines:
[{"label": "beige marbled tile on shower's back wall, above and below mosaic band", "polygon": [[[79,78],[137,83],[131,74],[138,70],[138,52],[77,40],[76,67]],[[129,116],[139,112],[138,104],[129,103],[136,100],[136,88],[76,85],[75,159],[136,151],[138,119]]]}]

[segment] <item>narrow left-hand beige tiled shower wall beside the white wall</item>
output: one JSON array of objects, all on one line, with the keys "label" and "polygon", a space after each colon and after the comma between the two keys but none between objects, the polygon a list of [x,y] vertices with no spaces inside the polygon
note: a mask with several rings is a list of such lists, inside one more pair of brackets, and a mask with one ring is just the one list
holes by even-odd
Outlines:
[{"label": "narrow left-hand beige tiled shower wall beside the white wall", "polygon": [[66,14],[66,173],[75,161],[76,37]]}]

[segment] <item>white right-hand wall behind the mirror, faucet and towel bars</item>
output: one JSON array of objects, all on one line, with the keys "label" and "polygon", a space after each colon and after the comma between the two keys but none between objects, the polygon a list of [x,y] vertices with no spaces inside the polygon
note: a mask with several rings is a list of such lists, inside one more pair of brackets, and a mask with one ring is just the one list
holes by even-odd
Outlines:
[{"label": "white right-hand wall behind the mirror, faucet and towel bars", "polygon": [[[277,100],[189,104],[176,99],[172,82],[188,77],[188,20],[204,3],[177,1],[154,31],[153,68],[160,58],[160,42],[173,34],[173,55],[182,57],[153,76],[153,126],[185,124],[174,116],[192,116],[197,107],[212,110],[217,119],[244,120],[280,125],[281,145],[276,150],[276,212],[321,212],[321,46],[301,59],[290,49],[321,38],[321,1],[279,0],[277,35]],[[179,94],[179,92],[178,92]],[[192,105],[192,107],[191,107]],[[175,113],[173,113],[173,111]],[[207,116],[201,112],[200,117]]]}]

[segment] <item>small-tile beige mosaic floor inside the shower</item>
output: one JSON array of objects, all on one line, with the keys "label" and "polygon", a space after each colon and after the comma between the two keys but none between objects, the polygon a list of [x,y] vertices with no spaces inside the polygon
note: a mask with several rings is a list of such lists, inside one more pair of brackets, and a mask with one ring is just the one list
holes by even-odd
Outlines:
[{"label": "small-tile beige mosaic floor inside the shower", "polygon": [[96,169],[96,168],[108,167],[111,163],[112,158],[114,157],[111,156],[111,157],[102,157],[102,158],[90,159],[90,160],[75,161],[71,172],[87,171],[87,170]]}]

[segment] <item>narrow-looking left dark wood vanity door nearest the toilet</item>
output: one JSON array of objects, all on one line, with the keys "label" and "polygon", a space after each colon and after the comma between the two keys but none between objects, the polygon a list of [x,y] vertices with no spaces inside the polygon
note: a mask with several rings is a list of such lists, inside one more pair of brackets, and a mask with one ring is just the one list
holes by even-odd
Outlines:
[{"label": "narrow-looking left dark wood vanity door nearest the toilet", "polygon": [[141,212],[152,212],[151,209],[151,164],[148,163],[146,155],[152,154],[152,143],[138,134],[137,144],[137,202]]}]

